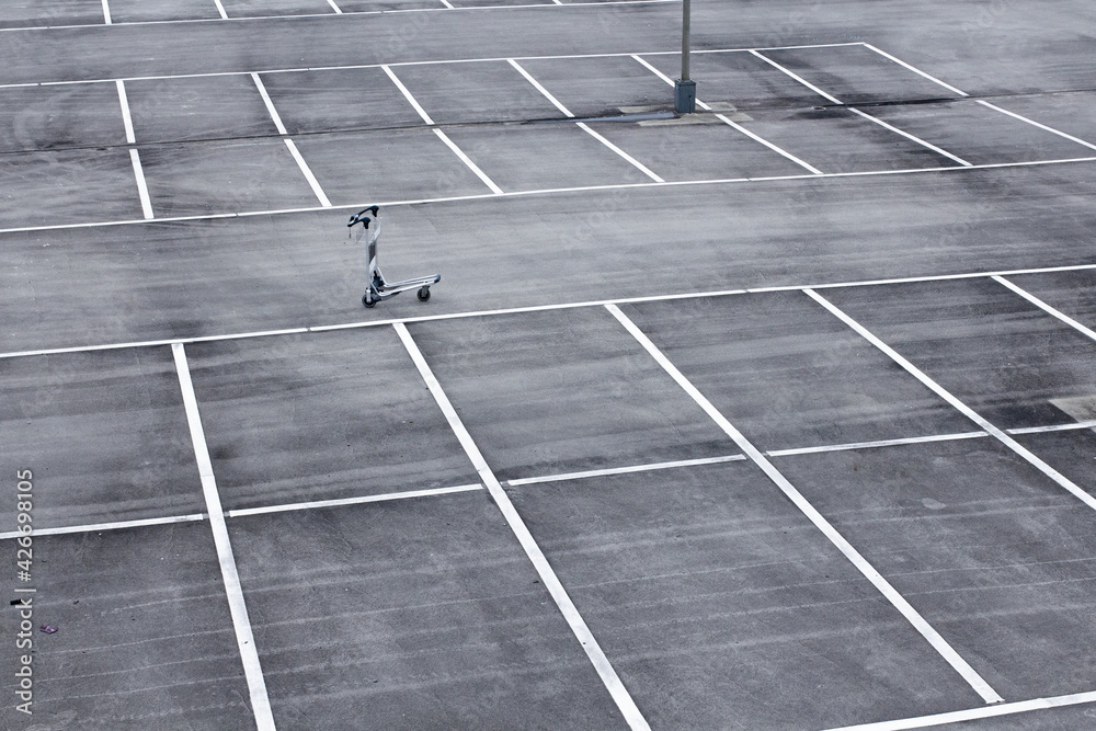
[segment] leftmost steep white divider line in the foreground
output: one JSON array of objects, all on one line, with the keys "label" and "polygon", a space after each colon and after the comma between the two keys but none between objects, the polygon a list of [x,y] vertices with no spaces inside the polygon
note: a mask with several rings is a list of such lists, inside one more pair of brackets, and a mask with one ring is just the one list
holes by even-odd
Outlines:
[{"label": "leftmost steep white divider line in the foreground", "polygon": [[236,641],[240,648],[240,660],[243,662],[243,673],[248,681],[251,695],[251,708],[255,715],[255,724],[260,731],[274,730],[274,715],[271,712],[270,698],[266,695],[266,681],[259,662],[259,651],[255,638],[251,631],[251,620],[248,618],[248,606],[240,585],[240,574],[232,555],[232,544],[228,537],[228,526],[225,524],[225,511],[221,509],[220,494],[217,491],[217,479],[213,472],[213,461],[209,459],[209,448],[206,445],[205,431],[202,427],[202,415],[198,412],[197,397],[194,395],[194,384],[191,381],[191,369],[186,364],[186,351],[182,343],[171,346],[179,375],[179,387],[183,396],[183,408],[186,411],[186,423],[194,444],[194,459],[197,462],[198,476],[202,478],[202,494],[206,502],[209,525],[213,528],[214,545],[217,548],[217,559],[220,562],[220,573],[225,580],[225,592],[232,615],[232,626],[236,629]]}]

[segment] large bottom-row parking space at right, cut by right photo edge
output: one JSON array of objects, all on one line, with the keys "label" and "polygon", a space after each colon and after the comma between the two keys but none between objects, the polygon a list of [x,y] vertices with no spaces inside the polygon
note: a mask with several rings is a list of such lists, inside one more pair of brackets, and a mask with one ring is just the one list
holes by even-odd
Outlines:
[{"label": "large bottom-row parking space at right, cut by right photo edge", "polygon": [[1096,513],[993,439],[780,470],[1006,698],[1092,687]]}]

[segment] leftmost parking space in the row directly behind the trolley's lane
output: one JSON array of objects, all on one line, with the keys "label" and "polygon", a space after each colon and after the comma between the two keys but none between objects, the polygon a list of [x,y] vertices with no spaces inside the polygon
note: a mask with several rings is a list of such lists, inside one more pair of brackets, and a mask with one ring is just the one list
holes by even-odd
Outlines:
[{"label": "leftmost parking space in the row directly behind the trolley's lane", "polygon": [[2,155],[0,202],[4,228],[141,217],[133,163],[124,149]]}]

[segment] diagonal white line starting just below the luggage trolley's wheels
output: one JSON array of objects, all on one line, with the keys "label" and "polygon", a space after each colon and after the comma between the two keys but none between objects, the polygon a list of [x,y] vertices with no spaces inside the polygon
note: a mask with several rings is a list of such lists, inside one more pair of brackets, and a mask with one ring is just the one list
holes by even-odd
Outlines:
[{"label": "diagonal white line starting just below the luggage trolley's wheels", "polygon": [[479,447],[476,446],[476,442],[472,439],[471,434],[469,434],[468,430],[465,429],[464,423],[460,421],[460,416],[457,415],[456,410],[453,408],[448,397],[442,389],[442,385],[434,377],[434,374],[430,368],[430,364],[426,363],[426,359],[423,357],[422,352],[415,344],[414,339],[411,338],[411,333],[408,332],[407,325],[402,322],[397,322],[392,327],[396,329],[397,334],[400,336],[400,341],[403,343],[408,354],[411,356],[415,367],[419,369],[419,374],[422,376],[422,379],[426,382],[426,387],[430,389],[431,395],[433,395],[438,408],[442,410],[442,413],[445,414],[445,419],[448,421],[449,427],[460,442],[460,446],[464,447],[465,453],[468,455],[468,459],[471,460],[480,480],[482,480],[483,484],[487,486],[495,505],[498,505],[506,523],[510,525],[510,529],[513,530],[518,542],[521,542],[522,548],[525,549],[526,556],[528,556],[537,573],[540,575],[540,582],[544,584],[545,589],[548,590],[548,593],[551,594],[552,599],[555,599],[556,605],[559,607],[563,618],[570,626],[571,631],[574,632],[575,638],[582,644],[582,649],[585,650],[586,656],[590,658],[590,662],[594,665],[598,676],[602,678],[602,683],[605,684],[605,688],[609,692],[609,695],[616,703],[617,708],[624,715],[628,726],[635,731],[650,731],[647,720],[639,711],[639,708],[636,706],[636,703],[632,700],[632,697],[628,693],[627,688],[625,688],[624,683],[620,682],[619,676],[609,663],[608,658],[605,656],[601,646],[597,644],[597,640],[594,639],[593,633],[586,626],[586,621],[582,618],[582,615],[579,614],[579,609],[574,606],[574,603],[571,602],[571,597],[568,596],[567,590],[563,589],[563,584],[560,583],[556,572],[548,563],[548,559],[545,558],[540,547],[533,538],[533,534],[529,533],[528,526],[525,525],[525,521],[522,519],[522,516],[517,513],[517,510],[510,501],[510,496],[506,495],[506,491],[503,490],[502,484],[499,482],[498,478],[495,478],[494,471],[491,470],[491,467],[487,464],[487,460],[480,453]]}]

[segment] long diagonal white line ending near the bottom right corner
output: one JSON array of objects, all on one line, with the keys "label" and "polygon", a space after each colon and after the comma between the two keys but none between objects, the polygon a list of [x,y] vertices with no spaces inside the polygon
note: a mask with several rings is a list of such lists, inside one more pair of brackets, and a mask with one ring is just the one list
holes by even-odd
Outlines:
[{"label": "long diagonal white line ending near the bottom right corner", "polygon": [[814,509],[811,503],[803,498],[803,495],[796,489],[795,486],[780,472],[776,467],[773,466],[765,455],[757,450],[757,448],[742,435],[739,430],[737,430],[731,422],[727,420],[723,414],[716,409],[716,407],[709,401],[704,393],[689,381],[685,375],[677,369],[677,366],[662,353],[661,350],[647,336],[647,334],[632,322],[628,316],[626,316],[620,308],[615,305],[606,305],[606,309],[624,325],[632,338],[646,350],[651,357],[662,366],[681,388],[696,401],[697,406],[704,409],[705,413],[716,422],[716,424],[723,430],[731,439],[739,446],[753,462],[761,468],[761,470],[768,477],[769,480],[779,488],[780,492],[785,494],[799,511],[807,516],[807,518],[814,524],[819,530],[830,540],[834,547],[840,550],[848,561],[856,567],[856,569],[876,587],[876,590],[882,594],[891,605],[898,609],[898,612],[905,617],[906,621],[916,629],[925,640],[933,647],[936,652],[939,653],[951,667],[959,673],[964,681],[970,685],[971,688],[978,693],[982,699],[987,704],[1001,703],[1003,698],[997,695],[997,693],[990,687],[990,684],[982,678],[978,672],[974,671],[970,664],[963,660],[955,649],[948,644],[939,632],[937,632],[928,621],[925,620],[921,614],[913,608],[904,596],[902,596],[891,584],[887,581],[882,574],[876,571],[867,559],[860,556],[859,551],[849,544],[836,528],[831,525],[829,521],[823,517],[818,510]]}]

